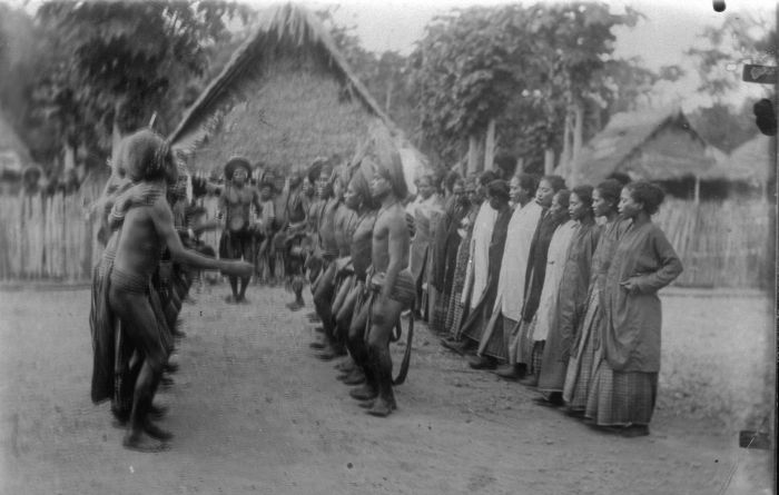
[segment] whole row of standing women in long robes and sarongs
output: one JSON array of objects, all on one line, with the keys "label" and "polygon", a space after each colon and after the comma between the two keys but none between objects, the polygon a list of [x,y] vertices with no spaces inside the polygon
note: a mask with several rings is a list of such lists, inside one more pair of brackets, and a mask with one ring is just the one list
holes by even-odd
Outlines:
[{"label": "whole row of standing women in long robes and sarongs", "polygon": [[431,200],[432,180],[421,184],[412,270],[421,316],[442,344],[533,387],[539,405],[649,434],[658,290],[682,270],[651,221],[662,190],[623,176],[569,190],[561,177],[520,174],[506,186],[487,171],[450,180],[447,198]]}]

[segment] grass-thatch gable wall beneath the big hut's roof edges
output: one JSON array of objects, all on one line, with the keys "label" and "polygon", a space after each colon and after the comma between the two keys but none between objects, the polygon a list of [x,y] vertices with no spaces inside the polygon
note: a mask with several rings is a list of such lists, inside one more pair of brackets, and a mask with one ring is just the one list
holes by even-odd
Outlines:
[{"label": "grass-thatch gable wall beneath the big hut's roof edges", "polygon": [[286,170],[319,156],[351,158],[375,118],[321,63],[313,57],[285,58],[255,68],[224,97],[220,107],[227,111],[206,122],[207,136],[189,166],[211,171],[243,155]]}]

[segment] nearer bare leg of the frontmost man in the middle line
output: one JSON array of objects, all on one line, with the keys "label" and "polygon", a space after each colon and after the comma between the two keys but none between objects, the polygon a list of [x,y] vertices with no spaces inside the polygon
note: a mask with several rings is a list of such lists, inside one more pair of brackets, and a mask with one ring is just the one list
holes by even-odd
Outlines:
[{"label": "nearer bare leg of the frontmost man in the middle line", "polygon": [[368,330],[367,347],[368,358],[376,376],[378,396],[368,409],[373,416],[385,417],[397,407],[395,394],[392,390],[392,356],[389,355],[389,337],[403,311],[403,304],[394,299],[386,299],[382,309],[383,318],[376,318],[378,298],[374,299],[371,308],[371,329]]}]

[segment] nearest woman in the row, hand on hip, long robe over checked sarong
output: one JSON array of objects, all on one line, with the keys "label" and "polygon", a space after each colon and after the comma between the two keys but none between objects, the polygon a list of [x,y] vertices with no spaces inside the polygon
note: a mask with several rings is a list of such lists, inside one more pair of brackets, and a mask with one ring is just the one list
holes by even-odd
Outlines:
[{"label": "nearest woman in the row, hand on hip, long robe over checked sarong", "polygon": [[649,435],[660,372],[658,290],[682,271],[682,264],[651,216],[663,200],[650,182],[622,189],[620,215],[631,220],[607,273],[601,345],[585,416],[628,437]]}]

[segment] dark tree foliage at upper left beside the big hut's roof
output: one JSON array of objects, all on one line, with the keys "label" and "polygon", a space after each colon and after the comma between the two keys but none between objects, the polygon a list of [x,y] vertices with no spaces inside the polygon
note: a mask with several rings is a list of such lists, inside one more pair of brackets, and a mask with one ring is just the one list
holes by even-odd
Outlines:
[{"label": "dark tree foliage at upper left beside the big hut's roof", "polygon": [[56,43],[37,81],[38,113],[57,123],[65,142],[98,152],[155,112],[165,132],[190,98],[190,82],[206,73],[209,50],[225,39],[225,21],[246,12],[227,2],[43,3],[37,20]]}]

